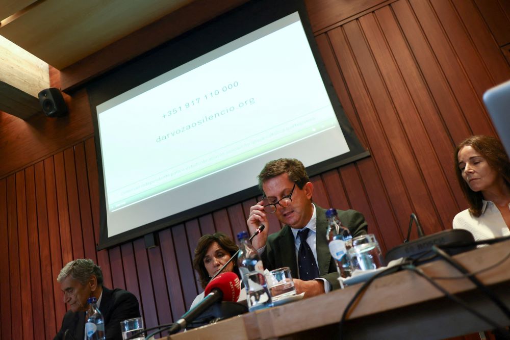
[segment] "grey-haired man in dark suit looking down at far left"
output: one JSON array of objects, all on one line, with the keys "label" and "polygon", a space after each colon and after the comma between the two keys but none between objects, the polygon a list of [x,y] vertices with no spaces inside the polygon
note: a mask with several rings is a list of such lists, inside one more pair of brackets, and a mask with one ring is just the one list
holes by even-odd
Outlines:
[{"label": "grey-haired man in dark suit looking down at far left", "polygon": [[103,273],[91,259],[69,262],[60,271],[57,281],[64,292],[64,302],[69,305],[62,327],[55,339],[85,338],[85,315],[89,308],[87,299],[95,297],[97,307],[105,319],[107,340],[122,340],[120,322],[140,317],[138,299],[132,293],[103,286]]}]

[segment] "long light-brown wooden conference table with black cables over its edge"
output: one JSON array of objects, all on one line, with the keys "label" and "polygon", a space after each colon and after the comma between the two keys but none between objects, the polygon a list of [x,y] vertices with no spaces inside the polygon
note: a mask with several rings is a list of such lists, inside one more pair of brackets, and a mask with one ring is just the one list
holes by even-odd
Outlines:
[{"label": "long light-brown wooden conference table with black cables over its edge", "polygon": [[[510,241],[453,256],[510,305]],[[510,325],[502,311],[444,260],[419,267],[446,291],[500,325]],[[486,270],[484,270],[486,269]],[[478,273],[479,272],[479,273]],[[448,279],[444,279],[448,277]],[[339,338],[338,323],[362,283],[343,290],[258,310],[168,337],[188,339]],[[351,308],[344,339],[444,339],[491,329],[486,322],[446,298],[411,271],[376,278]]]}]

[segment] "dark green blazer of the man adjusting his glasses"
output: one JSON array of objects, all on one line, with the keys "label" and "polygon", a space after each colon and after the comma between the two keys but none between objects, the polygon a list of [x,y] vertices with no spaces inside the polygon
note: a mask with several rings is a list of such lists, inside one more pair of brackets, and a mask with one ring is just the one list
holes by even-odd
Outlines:
[{"label": "dark green blazer of the man adjusting his glasses", "polygon": [[[317,213],[317,263],[319,265],[319,277],[331,283],[333,289],[339,289],[338,272],[335,261],[329,253],[326,241],[327,220],[326,211],[315,205]],[[367,222],[360,212],[355,210],[337,210],[338,218],[342,224],[349,228],[352,237],[367,233]],[[264,268],[273,270],[280,267],[289,267],[292,277],[299,277],[297,269],[296,246],[291,228],[286,225],[280,231],[272,233],[266,241],[266,249],[262,253]]]}]

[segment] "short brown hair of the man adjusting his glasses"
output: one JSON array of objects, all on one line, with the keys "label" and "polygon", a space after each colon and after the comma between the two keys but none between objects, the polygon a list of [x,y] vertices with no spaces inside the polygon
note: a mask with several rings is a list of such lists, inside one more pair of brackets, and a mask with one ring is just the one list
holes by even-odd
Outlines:
[{"label": "short brown hair of the man adjusting his glasses", "polygon": [[259,189],[263,191],[262,185],[266,180],[283,173],[287,173],[289,179],[296,182],[299,189],[303,189],[303,186],[310,181],[301,161],[294,158],[281,158],[268,162],[264,166],[264,169],[259,174]]}]

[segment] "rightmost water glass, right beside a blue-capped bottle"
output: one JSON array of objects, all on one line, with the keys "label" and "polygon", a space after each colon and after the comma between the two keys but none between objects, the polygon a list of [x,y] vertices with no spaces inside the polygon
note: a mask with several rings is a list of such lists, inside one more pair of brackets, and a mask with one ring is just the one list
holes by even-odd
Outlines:
[{"label": "rightmost water glass, right beside a blue-capped bottle", "polygon": [[377,243],[374,234],[353,238],[347,254],[353,270],[371,270],[385,266],[379,243]]}]

